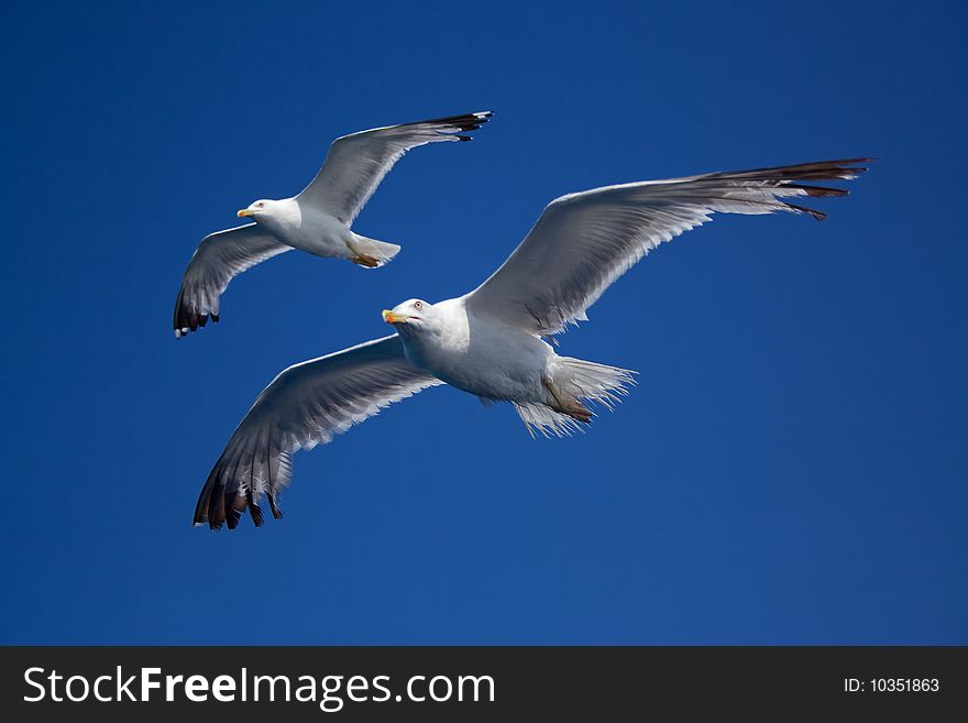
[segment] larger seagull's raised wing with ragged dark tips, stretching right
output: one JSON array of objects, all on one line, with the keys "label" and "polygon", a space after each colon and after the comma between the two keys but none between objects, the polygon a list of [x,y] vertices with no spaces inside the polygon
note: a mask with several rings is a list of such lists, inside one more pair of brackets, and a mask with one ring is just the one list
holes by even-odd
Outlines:
[{"label": "larger seagull's raised wing with ragged dark tips, stretching right", "polygon": [[595,188],[553,200],[504,264],[466,297],[476,314],[535,335],[586,319],[585,310],[649,251],[722,213],[810,213],[790,202],[803,196],[844,196],[842,188],[805,185],[846,180],[871,158],[711,173]]}]

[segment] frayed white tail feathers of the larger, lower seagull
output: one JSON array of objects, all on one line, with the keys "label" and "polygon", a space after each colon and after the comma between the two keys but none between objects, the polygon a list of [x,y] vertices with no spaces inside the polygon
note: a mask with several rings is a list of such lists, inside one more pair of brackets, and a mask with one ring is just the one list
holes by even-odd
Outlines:
[{"label": "frayed white tail feathers of the larger, lower seagull", "polygon": [[[557,394],[565,397],[561,402],[574,402],[581,406],[579,401],[586,401],[601,404],[609,410],[622,402],[622,397],[628,395],[629,386],[635,386],[637,373],[571,357],[559,357],[549,371]],[[547,404],[516,402],[515,408],[531,437],[535,437],[536,431],[546,438],[570,437],[575,431],[584,431],[581,424],[583,419],[576,419]]]}]

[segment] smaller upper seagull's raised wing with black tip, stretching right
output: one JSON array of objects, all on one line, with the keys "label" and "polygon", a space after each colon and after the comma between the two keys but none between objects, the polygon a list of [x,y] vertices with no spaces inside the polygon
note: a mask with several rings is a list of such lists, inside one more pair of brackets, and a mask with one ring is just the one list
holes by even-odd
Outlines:
[{"label": "smaller upper seagull's raised wing with black tip, stretching right", "polygon": [[407,151],[440,141],[470,141],[470,135],[460,133],[477,130],[491,116],[485,110],[338,138],[316,178],[296,198],[352,223],[383,177]]}]

